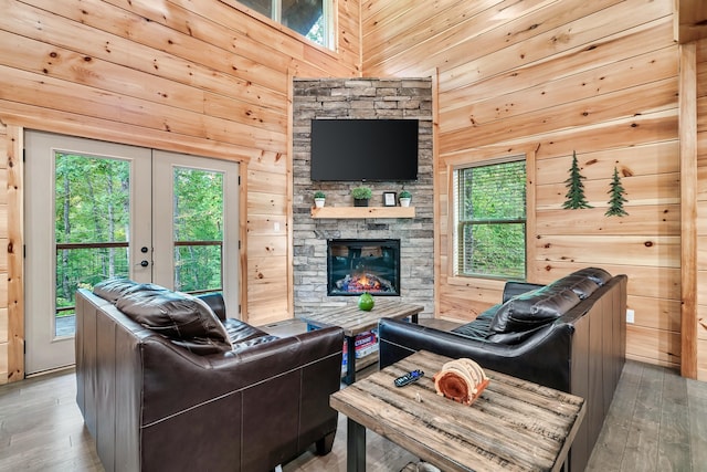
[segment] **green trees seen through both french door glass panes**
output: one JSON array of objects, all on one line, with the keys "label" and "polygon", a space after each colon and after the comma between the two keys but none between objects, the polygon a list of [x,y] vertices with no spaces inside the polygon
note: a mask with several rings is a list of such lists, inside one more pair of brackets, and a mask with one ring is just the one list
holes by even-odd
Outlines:
[{"label": "green trees seen through both french door glass panes", "polygon": [[[130,164],[56,153],[55,166],[54,334],[71,336],[76,290],[93,289],[109,277],[129,277]],[[223,174],[176,168],[175,290],[221,291],[222,256]]]}]

